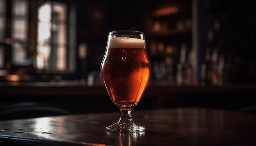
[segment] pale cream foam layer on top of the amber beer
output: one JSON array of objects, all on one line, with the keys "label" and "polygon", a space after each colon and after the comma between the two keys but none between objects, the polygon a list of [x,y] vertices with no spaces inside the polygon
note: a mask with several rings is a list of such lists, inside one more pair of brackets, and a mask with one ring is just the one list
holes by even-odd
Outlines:
[{"label": "pale cream foam layer on top of the amber beer", "polygon": [[128,37],[111,38],[108,48],[145,48],[145,40]]}]

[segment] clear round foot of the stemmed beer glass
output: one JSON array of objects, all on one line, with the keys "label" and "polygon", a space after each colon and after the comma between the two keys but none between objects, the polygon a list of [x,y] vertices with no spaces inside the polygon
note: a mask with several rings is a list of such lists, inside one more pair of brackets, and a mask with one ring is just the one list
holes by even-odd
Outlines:
[{"label": "clear round foot of the stemmed beer glass", "polygon": [[146,128],[144,126],[138,125],[136,123],[120,123],[117,122],[111,126],[106,127],[107,131],[115,132],[136,132],[144,131]]}]

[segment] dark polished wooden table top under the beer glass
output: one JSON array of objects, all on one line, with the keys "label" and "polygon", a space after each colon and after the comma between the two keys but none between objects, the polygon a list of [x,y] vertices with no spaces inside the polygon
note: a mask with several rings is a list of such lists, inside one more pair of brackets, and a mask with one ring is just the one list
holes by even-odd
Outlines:
[{"label": "dark polished wooden table top under the beer glass", "polygon": [[[108,132],[119,112],[0,121],[0,145],[256,146],[256,115],[210,108],[134,110],[143,132]],[[4,143],[4,144],[1,144]]]}]

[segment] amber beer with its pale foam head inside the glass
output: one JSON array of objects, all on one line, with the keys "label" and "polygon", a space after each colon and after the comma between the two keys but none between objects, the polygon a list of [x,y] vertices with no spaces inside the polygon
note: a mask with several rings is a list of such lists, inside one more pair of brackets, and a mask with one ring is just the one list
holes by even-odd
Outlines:
[{"label": "amber beer with its pale foam head inside the glass", "polygon": [[145,40],[111,38],[101,64],[101,75],[115,104],[137,104],[150,78]]}]

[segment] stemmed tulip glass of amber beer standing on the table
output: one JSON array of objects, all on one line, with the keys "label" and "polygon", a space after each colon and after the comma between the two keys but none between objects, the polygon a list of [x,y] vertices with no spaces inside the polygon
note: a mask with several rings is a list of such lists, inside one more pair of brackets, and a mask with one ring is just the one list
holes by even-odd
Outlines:
[{"label": "stemmed tulip glass of amber beer standing on the table", "polygon": [[112,31],[104,58],[101,77],[112,102],[121,112],[120,119],[107,131],[135,132],[145,127],[135,123],[131,111],[139,103],[151,74],[143,32]]}]

